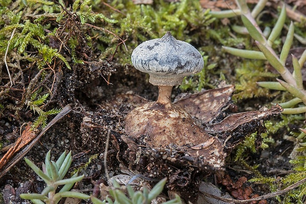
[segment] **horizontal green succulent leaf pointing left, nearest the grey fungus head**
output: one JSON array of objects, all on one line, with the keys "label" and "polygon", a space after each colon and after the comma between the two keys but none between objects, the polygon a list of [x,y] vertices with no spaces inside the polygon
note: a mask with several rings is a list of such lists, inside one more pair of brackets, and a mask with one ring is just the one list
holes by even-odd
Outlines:
[{"label": "horizontal green succulent leaf pointing left, nearest the grey fungus head", "polygon": [[242,50],[242,49],[226,47],[226,46],[222,46],[222,49],[228,52],[229,54],[232,54],[238,57],[243,57],[246,59],[267,60],[264,53],[259,52],[259,51]]}]

